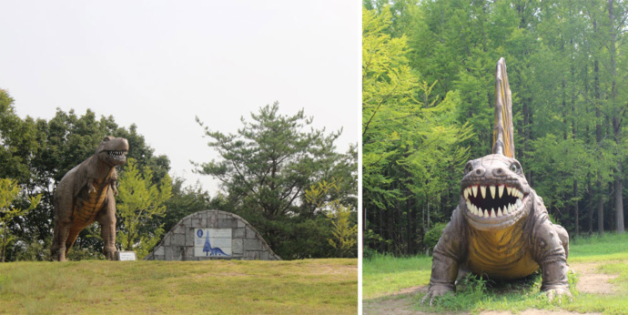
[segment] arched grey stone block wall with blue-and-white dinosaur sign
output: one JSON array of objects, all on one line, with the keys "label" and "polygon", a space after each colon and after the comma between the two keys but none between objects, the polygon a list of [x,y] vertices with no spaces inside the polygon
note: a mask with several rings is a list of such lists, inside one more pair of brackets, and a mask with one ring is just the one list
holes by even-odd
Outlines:
[{"label": "arched grey stone block wall with blue-and-white dinosaur sign", "polygon": [[218,210],[199,211],[181,219],[145,259],[280,260],[247,221]]}]

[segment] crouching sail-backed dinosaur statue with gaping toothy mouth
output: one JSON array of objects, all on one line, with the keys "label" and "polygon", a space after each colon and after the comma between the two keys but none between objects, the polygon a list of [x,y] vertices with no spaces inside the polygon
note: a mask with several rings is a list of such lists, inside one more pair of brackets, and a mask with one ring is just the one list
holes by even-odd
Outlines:
[{"label": "crouching sail-backed dinosaur statue with gaping toothy mouth", "polygon": [[514,158],[511,90],[506,62],[497,63],[492,154],[467,162],[461,196],[434,248],[430,288],[421,303],[456,290],[471,271],[489,279],[519,279],[542,269],[541,290],[571,298],[569,235],[552,224],[541,197]]}]

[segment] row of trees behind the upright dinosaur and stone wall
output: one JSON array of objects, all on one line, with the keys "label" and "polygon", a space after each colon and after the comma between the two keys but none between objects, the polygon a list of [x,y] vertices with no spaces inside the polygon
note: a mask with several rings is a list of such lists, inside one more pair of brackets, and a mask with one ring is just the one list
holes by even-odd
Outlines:
[{"label": "row of trees behind the upright dinosaur and stone wall", "polygon": [[[313,117],[304,110],[285,115],[275,103],[243,116],[236,134],[199,129],[220,157],[190,158],[198,173],[221,181],[212,196],[198,183],[170,178],[169,159],[155,155],[135,125],[119,127],[114,117],[96,117],[89,109],[76,115],[57,108],[49,120],[21,118],[14,103],[0,89],[2,261],[49,259],[56,184],[94,155],[106,135],[125,137],[130,147],[127,164],[118,169],[118,249],[136,250],[141,259],[181,218],[218,209],[246,219],[282,259],[357,256],[356,146],[339,153],[341,130],[311,127]],[[102,246],[93,224],[68,259],[103,259]]]}]

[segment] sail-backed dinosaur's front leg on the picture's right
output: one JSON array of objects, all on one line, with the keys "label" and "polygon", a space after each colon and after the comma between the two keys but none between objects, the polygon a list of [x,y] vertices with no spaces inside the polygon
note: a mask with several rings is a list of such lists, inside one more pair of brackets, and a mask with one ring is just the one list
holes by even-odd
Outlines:
[{"label": "sail-backed dinosaur's front leg on the picture's right", "polygon": [[561,226],[552,224],[548,219],[544,219],[532,234],[534,246],[534,259],[542,269],[541,290],[547,292],[550,300],[554,297],[567,296],[572,298],[569,291],[567,273],[567,249],[569,236]]}]

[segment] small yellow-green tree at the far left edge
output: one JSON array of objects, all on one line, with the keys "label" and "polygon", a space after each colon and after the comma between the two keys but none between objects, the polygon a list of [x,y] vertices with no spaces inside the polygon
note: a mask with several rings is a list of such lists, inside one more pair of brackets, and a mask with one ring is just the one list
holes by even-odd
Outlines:
[{"label": "small yellow-green tree at the far left edge", "polygon": [[22,188],[13,179],[0,178],[0,233],[2,233],[2,262],[5,262],[6,243],[9,241],[8,225],[19,216],[37,207],[41,195],[29,198],[28,208],[15,208],[13,203],[19,198]]}]

